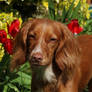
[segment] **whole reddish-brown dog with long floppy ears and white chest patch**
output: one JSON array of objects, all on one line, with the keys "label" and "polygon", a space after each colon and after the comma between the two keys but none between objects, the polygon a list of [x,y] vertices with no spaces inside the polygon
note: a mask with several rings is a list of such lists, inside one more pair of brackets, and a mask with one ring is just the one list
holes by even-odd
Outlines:
[{"label": "whole reddish-brown dog with long floppy ears and white chest patch", "polygon": [[74,37],[48,19],[24,23],[15,39],[11,71],[29,60],[31,92],[92,92],[92,36]]}]

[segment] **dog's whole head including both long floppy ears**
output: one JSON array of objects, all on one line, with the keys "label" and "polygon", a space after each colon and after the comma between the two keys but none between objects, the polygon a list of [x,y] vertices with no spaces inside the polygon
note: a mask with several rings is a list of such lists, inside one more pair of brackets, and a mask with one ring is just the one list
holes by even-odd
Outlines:
[{"label": "dog's whole head including both long floppy ears", "polygon": [[77,42],[68,28],[48,19],[33,19],[24,23],[14,43],[11,70],[26,60],[33,66],[47,66],[53,58],[61,70],[72,68],[79,52]]}]

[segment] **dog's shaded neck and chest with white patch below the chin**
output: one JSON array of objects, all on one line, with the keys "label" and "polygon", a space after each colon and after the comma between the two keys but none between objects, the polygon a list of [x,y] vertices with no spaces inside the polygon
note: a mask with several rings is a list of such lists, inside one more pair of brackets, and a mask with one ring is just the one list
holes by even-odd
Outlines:
[{"label": "dog's shaded neck and chest with white patch below the chin", "polygon": [[32,71],[32,92],[55,92],[57,79],[52,64],[34,67]]}]

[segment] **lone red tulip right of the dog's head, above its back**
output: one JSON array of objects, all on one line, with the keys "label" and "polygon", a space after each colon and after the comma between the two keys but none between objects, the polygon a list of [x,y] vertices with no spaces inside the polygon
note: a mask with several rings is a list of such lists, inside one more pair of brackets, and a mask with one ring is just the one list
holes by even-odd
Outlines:
[{"label": "lone red tulip right of the dog's head, above its back", "polygon": [[77,19],[71,20],[71,22],[67,26],[73,34],[78,34],[83,31],[83,28],[79,26]]}]

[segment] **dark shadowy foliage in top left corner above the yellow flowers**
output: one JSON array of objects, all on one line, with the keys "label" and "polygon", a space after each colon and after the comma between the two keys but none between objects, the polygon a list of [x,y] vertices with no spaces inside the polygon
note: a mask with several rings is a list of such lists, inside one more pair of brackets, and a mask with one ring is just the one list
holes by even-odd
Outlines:
[{"label": "dark shadowy foliage in top left corner above the yellow flowers", "polygon": [[13,12],[14,15],[18,12],[22,19],[26,20],[36,13],[38,1],[40,0],[2,0],[0,1],[0,12]]}]

